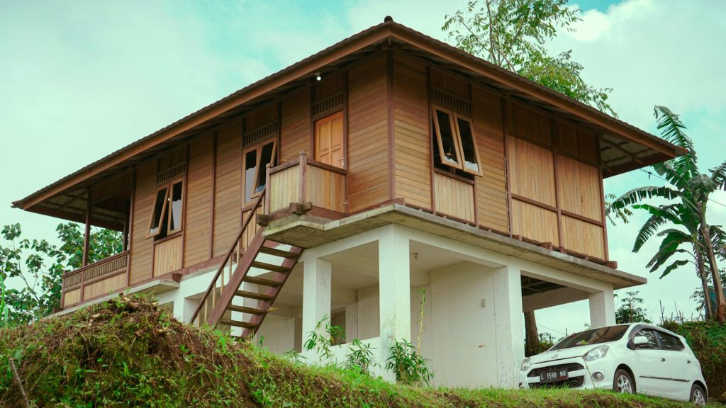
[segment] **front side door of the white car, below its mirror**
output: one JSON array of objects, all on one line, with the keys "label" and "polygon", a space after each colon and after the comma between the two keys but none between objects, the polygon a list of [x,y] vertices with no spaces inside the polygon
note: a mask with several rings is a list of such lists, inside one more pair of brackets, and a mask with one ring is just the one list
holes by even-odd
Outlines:
[{"label": "front side door of the white car, below its mirror", "polygon": [[635,387],[639,393],[662,396],[667,388],[666,380],[661,373],[663,362],[661,362],[661,348],[658,344],[656,333],[649,328],[643,328],[635,332],[631,338],[645,336],[648,343],[633,346],[633,364],[630,367],[635,375]]}]

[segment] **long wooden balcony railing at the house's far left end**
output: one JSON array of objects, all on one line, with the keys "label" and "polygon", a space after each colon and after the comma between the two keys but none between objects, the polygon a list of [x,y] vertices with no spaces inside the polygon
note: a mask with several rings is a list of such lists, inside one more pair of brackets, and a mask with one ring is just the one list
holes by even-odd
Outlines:
[{"label": "long wooden balcony railing at the house's far left end", "polygon": [[129,282],[129,251],[63,274],[61,307],[113,293]]}]

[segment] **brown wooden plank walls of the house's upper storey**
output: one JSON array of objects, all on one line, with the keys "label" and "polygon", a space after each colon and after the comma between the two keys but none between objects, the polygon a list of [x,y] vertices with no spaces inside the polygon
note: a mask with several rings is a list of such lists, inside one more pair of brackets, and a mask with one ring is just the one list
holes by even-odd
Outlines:
[{"label": "brown wooden plank walls of the house's upper storey", "polygon": [[[476,222],[484,228],[510,231],[579,253],[606,258],[602,180],[595,134],[588,134],[518,103],[507,102],[510,115],[503,118],[501,95],[481,86],[462,86],[462,81],[449,81],[446,76],[437,76],[435,79],[439,87],[450,86],[452,94],[470,98],[471,120],[484,176],[475,177],[473,184],[442,174],[433,176],[429,68],[424,62],[394,52],[393,86],[388,89],[386,62],[386,52],[380,52],[351,65],[346,75],[335,77],[335,81],[347,78],[348,160],[345,184],[342,176],[331,175],[336,181],[331,186],[335,187],[336,195],[347,189],[348,203],[345,207],[335,207],[336,203],[331,201],[328,203],[331,208],[353,213],[383,203],[393,191],[394,197],[404,198],[406,203],[420,208],[453,212],[449,215]],[[325,79],[322,82],[314,84],[318,99],[325,97],[326,89],[339,92],[342,86],[337,82],[326,85]],[[388,97],[392,101],[390,106]],[[275,115],[280,118],[278,164],[297,159],[301,150],[311,154],[311,87],[302,86],[272,103],[275,104]],[[392,110],[390,116],[388,109]],[[388,140],[389,118],[393,121],[393,144],[389,144]],[[260,123],[269,120],[271,118],[264,117]],[[171,272],[167,269],[172,266],[182,268],[200,264],[223,255],[229,249],[240,229],[244,204],[241,187],[242,131],[253,122],[253,119],[248,119],[245,125],[242,117],[233,118],[189,142],[184,242],[174,247],[184,253],[178,264],[164,266],[156,274]],[[216,150],[213,149],[214,133],[217,135]],[[389,167],[391,148],[394,151],[393,167]],[[509,154],[506,159],[505,151]],[[510,160],[510,191],[521,198],[513,199],[512,208],[508,208],[505,160]],[[393,180],[390,168],[395,170]],[[152,259],[154,264],[166,262],[163,258],[152,257],[154,242],[147,239],[155,199],[156,171],[154,158],[136,167],[131,284],[152,278]],[[290,183],[294,182],[290,180]],[[390,183],[393,183],[393,188]],[[435,191],[441,189],[461,191],[460,194],[444,197],[443,190]],[[272,208],[287,208],[289,197],[276,198]],[[327,198],[319,197],[319,200]],[[462,205],[457,200],[465,200],[471,205]]]}]

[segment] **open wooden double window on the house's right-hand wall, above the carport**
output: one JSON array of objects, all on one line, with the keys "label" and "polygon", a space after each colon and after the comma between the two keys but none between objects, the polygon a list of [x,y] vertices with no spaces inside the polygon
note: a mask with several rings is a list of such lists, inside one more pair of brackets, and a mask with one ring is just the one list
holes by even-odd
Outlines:
[{"label": "open wooden double window on the house's right-hand wall, above the carport", "polygon": [[481,176],[481,160],[471,121],[438,106],[433,107],[432,119],[438,146],[434,150],[436,165]]}]

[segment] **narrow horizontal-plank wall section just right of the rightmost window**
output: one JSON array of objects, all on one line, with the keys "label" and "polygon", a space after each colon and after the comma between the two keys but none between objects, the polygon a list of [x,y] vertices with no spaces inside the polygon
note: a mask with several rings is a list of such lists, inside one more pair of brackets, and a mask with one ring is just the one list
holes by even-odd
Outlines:
[{"label": "narrow horizontal-plank wall section just right of the rightmost window", "polygon": [[475,177],[477,223],[484,227],[509,231],[507,210],[507,176],[505,171],[504,135],[502,134],[502,99],[484,89],[473,89],[473,121],[476,144],[484,176]]}]

